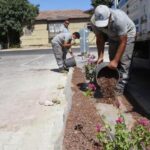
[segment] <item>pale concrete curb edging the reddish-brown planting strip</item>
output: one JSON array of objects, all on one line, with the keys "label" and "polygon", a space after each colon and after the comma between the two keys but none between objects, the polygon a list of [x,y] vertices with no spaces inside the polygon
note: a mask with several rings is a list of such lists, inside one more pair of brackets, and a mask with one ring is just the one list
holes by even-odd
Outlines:
[{"label": "pale concrete curb edging the reddish-brown planting strip", "polygon": [[67,117],[69,114],[69,111],[71,109],[71,105],[72,105],[72,90],[71,90],[71,81],[72,81],[72,74],[73,74],[73,70],[74,69],[70,69],[69,73],[68,73],[68,77],[67,77],[67,81],[66,81],[66,86],[64,89],[64,94],[66,97],[66,108],[64,110],[63,113],[63,127],[62,127],[62,132],[59,136],[59,138],[56,140],[56,142],[54,143],[54,150],[63,150],[63,139],[64,139],[64,133],[65,133],[65,127],[66,127],[66,121],[67,121]]}]

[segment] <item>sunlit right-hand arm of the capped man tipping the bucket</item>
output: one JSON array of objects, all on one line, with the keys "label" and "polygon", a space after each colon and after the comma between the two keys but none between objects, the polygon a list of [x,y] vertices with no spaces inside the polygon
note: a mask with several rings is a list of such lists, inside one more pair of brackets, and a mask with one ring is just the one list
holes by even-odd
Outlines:
[{"label": "sunlit right-hand arm of the capped man tipping the bucket", "polygon": [[127,44],[127,35],[123,35],[123,36],[120,36],[119,37],[119,47],[118,47],[118,50],[117,50],[117,53],[114,57],[114,59],[112,61],[110,61],[108,67],[110,69],[116,69],[117,66],[118,66],[118,63],[125,51],[125,48],[126,48],[126,44]]}]

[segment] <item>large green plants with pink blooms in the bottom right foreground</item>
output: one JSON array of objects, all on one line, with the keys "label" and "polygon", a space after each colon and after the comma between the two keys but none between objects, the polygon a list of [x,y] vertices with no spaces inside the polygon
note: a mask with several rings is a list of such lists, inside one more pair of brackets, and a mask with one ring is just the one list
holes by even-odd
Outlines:
[{"label": "large green plants with pink blooms in the bottom right foreground", "polygon": [[116,120],[115,133],[112,136],[108,128],[102,130],[102,126],[96,126],[97,139],[102,143],[105,150],[142,150],[150,145],[150,122],[140,119],[138,124],[129,131],[123,116]]}]

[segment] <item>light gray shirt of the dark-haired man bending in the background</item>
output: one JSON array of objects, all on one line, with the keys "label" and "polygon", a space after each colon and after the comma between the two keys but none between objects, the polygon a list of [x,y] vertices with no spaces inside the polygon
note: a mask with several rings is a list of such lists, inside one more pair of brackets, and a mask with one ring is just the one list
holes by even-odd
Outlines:
[{"label": "light gray shirt of the dark-haired man bending in the background", "polygon": [[57,43],[59,45],[63,45],[64,43],[70,43],[72,41],[71,33],[59,33],[53,39],[52,43]]}]

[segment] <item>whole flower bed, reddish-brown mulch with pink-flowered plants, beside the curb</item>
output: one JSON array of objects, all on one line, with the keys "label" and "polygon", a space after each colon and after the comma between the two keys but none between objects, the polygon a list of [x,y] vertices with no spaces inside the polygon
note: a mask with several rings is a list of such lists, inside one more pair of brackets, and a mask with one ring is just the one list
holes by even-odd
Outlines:
[{"label": "whole flower bed, reddish-brown mulch with pink-flowered plants, beside the curb", "polygon": [[[137,123],[132,130],[128,130],[120,113],[118,119],[116,118],[115,133],[111,134],[111,125],[105,124],[95,109],[95,85],[88,83],[83,89],[81,88],[86,82],[81,69],[75,68],[72,79],[74,95],[66,123],[64,150],[132,150],[133,148],[140,150],[143,149],[143,145],[148,145],[149,120],[143,119],[127,101],[124,101],[128,111],[126,113],[131,113]],[[102,99],[104,98],[99,98],[98,102],[108,102],[106,98],[104,101]],[[111,100],[110,104],[113,102]],[[119,105],[117,107],[120,109]]]}]

